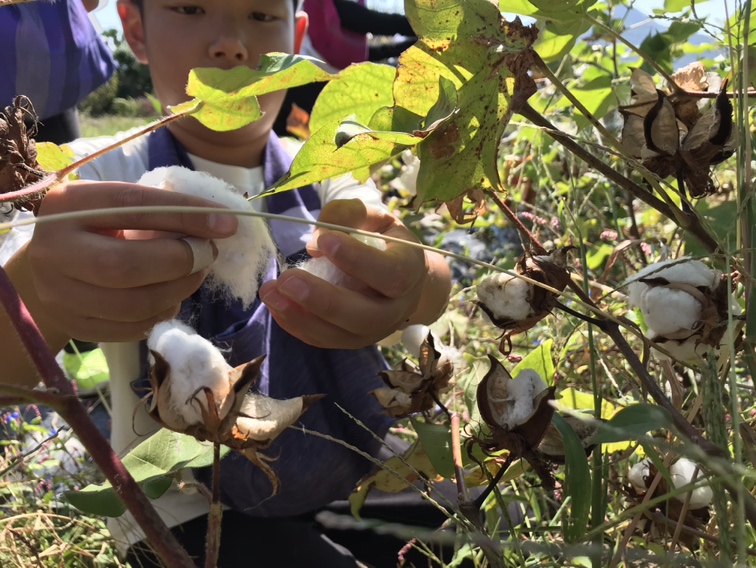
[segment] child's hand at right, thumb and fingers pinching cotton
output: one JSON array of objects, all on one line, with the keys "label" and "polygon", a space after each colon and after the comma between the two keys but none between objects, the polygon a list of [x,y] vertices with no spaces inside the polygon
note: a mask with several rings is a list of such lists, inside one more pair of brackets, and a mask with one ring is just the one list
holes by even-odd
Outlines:
[{"label": "child's hand at right, thumb and fingers pinching cotton", "polygon": [[[319,220],[418,242],[396,217],[359,200],[333,201]],[[310,345],[372,345],[410,323],[430,323],[446,304],[448,268],[438,255],[393,242],[380,251],[324,229],[316,231],[308,251],[325,255],[363,285],[346,289],[297,269],[263,284],[260,297],[279,325]]]}]

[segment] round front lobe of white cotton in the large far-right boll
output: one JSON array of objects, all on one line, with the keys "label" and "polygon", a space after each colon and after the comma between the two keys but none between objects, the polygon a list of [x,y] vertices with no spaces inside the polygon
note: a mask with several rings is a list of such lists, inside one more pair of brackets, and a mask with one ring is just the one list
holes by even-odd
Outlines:
[{"label": "round front lobe of white cotton in the large far-right boll", "polygon": [[668,337],[680,331],[693,331],[701,318],[701,303],[682,290],[650,287],[641,294],[641,312],[646,325]]}]

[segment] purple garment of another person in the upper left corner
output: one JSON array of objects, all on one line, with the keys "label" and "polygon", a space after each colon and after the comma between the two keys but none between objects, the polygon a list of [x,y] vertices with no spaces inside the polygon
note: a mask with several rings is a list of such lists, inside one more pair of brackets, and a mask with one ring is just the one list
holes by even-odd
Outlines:
[{"label": "purple garment of another person in the upper left corner", "polygon": [[0,106],[31,99],[41,119],[75,107],[115,71],[80,0],[0,8]]}]

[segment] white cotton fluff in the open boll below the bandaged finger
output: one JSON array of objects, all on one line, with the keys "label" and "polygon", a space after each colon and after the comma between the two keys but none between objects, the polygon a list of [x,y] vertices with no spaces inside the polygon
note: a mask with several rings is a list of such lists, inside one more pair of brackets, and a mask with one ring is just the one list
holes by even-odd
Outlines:
[{"label": "white cotton fluff in the open boll below the bandaged finger", "polygon": [[199,389],[210,389],[217,403],[228,395],[231,366],[217,347],[189,326],[178,320],[159,323],[147,347],[170,365],[170,406],[188,425],[203,422],[200,403],[190,402]]}]

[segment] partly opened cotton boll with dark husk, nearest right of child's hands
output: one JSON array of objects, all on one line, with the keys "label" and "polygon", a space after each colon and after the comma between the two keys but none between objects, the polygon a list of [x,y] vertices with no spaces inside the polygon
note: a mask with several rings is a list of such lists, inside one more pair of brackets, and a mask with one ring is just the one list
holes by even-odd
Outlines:
[{"label": "partly opened cotton boll with dark husk, nearest right of child's hands", "polygon": [[[515,272],[559,290],[570,280],[565,247],[547,255],[525,254],[517,261]],[[556,295],[535,284],[509,274],[497,273],[481,280],[476,288],[477,304],[494,325],[504,330],[499,349],[511,350],[510,337],[527,331],[546,317],[557,303]]]}]

